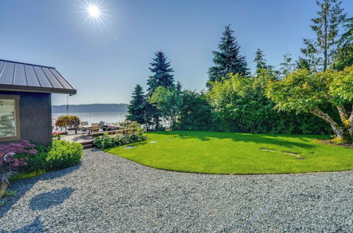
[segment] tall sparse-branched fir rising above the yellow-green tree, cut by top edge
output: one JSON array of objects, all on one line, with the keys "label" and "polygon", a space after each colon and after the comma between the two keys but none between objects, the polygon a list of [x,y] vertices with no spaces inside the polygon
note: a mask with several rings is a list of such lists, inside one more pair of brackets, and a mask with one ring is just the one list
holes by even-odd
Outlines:
[{"label": "tall sparse-branched fir rising above the yellow-green tree, cut by top edge", "polygon": [[320,11],[318,18],[312,18],[311,29],[316,33],[314,39],[304,39],[306,48],[301,52],[309,58],[312,68],[325,71],[337,53],[340,26],[347,16],[340,6],[341,1],[316,1]]}]

